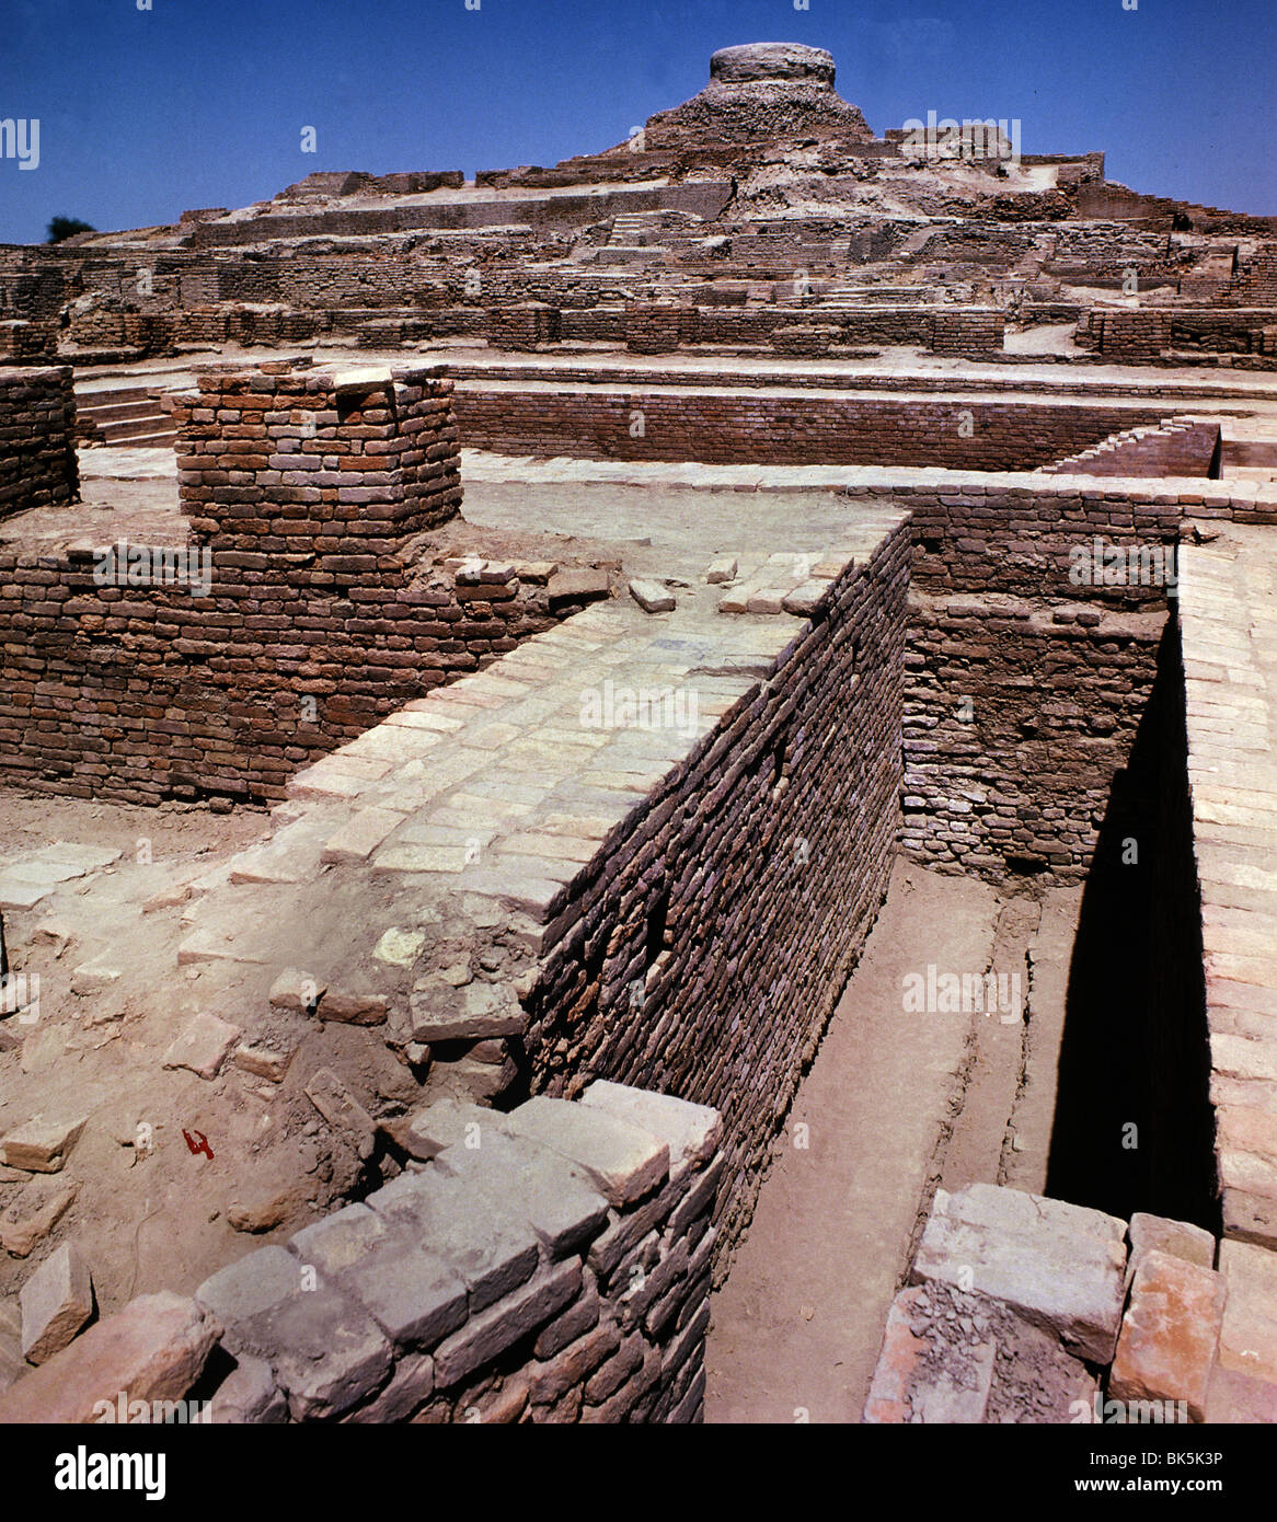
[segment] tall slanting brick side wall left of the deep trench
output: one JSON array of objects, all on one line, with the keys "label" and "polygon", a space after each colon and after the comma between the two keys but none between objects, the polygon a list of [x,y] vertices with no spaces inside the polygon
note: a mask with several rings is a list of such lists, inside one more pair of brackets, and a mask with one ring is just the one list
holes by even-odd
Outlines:
[{"label": "tall slanting brick side wall left of the deep trench", "polygon": [[772,674],[577,880],[524,1001],[536,1088],[609,1078],[721,1113],[718,1274],[886,892],[909,557],[896,519],[831,583]]}]

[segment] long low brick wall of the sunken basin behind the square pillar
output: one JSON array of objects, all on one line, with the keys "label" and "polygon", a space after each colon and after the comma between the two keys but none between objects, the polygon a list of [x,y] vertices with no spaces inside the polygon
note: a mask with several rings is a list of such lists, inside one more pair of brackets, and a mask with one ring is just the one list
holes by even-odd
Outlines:
[{"label": "long low brick wall of the sunken basin behind the square pillar", "polygon": [[[641,431],[633,426],[636,411],[644,416]],[[457,420],[467,447],[584,460],[1032,470],[1119,428],[1155,425],[1163,416],[1152,408],[747,394],[642,382],[627,390],[562,385],[533,391],[482,379],[457,387]]]}]

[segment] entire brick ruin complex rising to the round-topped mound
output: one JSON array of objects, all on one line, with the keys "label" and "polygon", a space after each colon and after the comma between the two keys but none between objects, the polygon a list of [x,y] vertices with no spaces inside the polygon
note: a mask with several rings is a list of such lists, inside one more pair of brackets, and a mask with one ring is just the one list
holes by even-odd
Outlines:
[{"label": "entire brick ruin complex rising to the round-topped mound", "polygon": [[0,1422],[1277,1420],[1277,218],[834,84],[0,248]]}]

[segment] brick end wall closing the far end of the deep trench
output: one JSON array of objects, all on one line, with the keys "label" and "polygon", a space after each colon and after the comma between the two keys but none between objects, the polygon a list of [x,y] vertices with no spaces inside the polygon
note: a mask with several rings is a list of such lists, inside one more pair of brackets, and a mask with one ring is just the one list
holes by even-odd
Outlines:
[{"label": "brick end wall closing the far end of the deep trench", "polygon": [[[1158,572],[1201,499],[1055,481],[890,496],[915,537],[901,846],[941,871],[1081,881],[1157,676]],[[1097,539],[1146,557],[1135,580],[1094,578]]]}]

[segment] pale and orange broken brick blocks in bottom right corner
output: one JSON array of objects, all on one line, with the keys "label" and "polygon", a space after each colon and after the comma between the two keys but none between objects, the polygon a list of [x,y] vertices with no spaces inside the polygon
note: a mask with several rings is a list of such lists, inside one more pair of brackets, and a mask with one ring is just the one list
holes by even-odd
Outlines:
[{"label": "pale and orange broken brick blocks in bottom right corner", "polygon": [[936,1196],[910,1285],[865,1422],[1277,1422],[1263,1248],[971,1184]]}]

